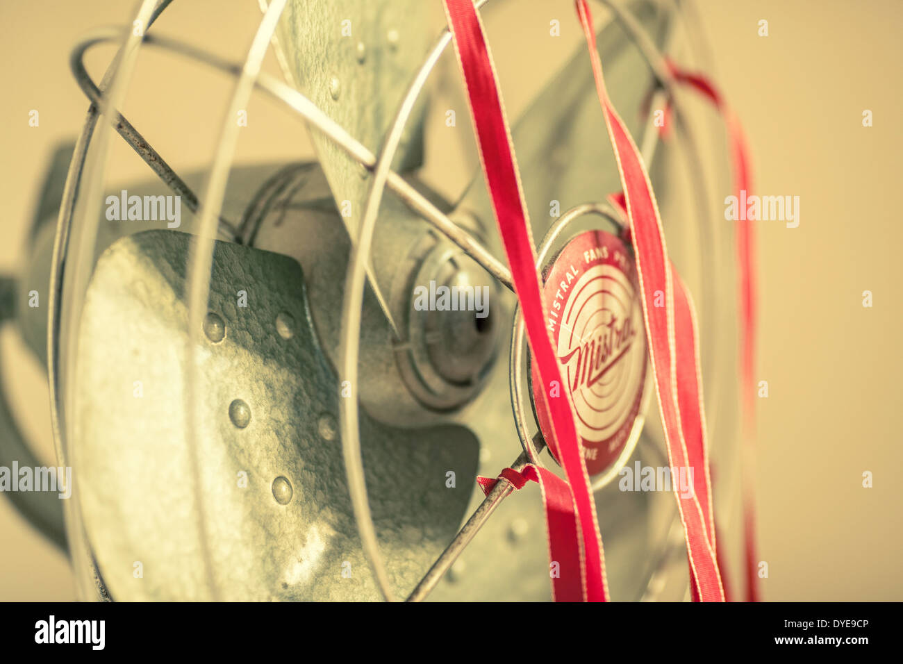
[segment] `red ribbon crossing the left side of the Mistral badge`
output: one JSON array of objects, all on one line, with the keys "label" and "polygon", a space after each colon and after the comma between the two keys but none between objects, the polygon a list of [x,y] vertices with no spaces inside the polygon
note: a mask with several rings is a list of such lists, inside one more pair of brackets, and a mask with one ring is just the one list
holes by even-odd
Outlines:
[{"label": "red ribbon crossing the left side of the Mistral badge", "polygon": [[[536,272],[536,252],[527,223],[526,203],[517,173],[514,146],[486,35],[473,0],[443,0],[443,4],[467,89],[483,174],[524,316],[527,341],[543,384],[551,386],[557,381],[558,385],[564,385],[552,348],[552,339],[545,327],[540,282]],[[548,482],[544,482],[543,487],[550,556],[553,556],[553,563],[560,563],[562,572],[560,578],[553,578],[555,599],[606,601],[608,589],[602,540],[590,478],[577,438],[570,394],[567,390],[561,390],[561,393],[561,397],[549,397],[548,390],[543,391],[552,419],[555,448],[570,484],[567,492],[573,496],[569,504],[563,495],[568,485],[562,486],[560,481],[554,482],[551,479],[554,475],[547,473]],[[540,477],[545,474],[540,472]],[[555,529],[562,520],[559,519],[558,510],[573,510],[577,524],[573,532],[564,531],[566,528],[562,531]],[[568,554],[565,560],[554,559],[554,556],[563,552]],[[573,585],[563,583],[565,575],[568,578],[575,577],[571,569],[566,569],[566,566],[573,566],[574,562],[579,566],[582,580],[579,594]]]}]

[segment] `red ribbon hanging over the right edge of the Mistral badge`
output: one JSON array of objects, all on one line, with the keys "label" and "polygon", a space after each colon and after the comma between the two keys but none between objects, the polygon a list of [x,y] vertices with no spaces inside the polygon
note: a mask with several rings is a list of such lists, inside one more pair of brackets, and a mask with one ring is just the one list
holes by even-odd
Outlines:
[{"label": "red ribbon hanging over the right edge of the Mistral badge", "polygon": [[703,602],[723,602],[724,590],[715,554],[693,304],[668,260],[665,235],[646,167],[605,89],[590,7],[586,0],[577,0],[576,6],[623,187],[668,459],[672,467],[694,471],[692,496],[676,491],[675,487],[675,499],[684,525],[693,597]]}]

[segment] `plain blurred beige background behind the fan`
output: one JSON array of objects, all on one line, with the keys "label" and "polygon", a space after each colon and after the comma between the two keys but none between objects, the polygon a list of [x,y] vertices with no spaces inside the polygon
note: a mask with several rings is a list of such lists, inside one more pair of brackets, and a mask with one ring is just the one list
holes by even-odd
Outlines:
[{"label": "plain blurred beige background behind the fan", "polygon": [[[438,3],[438,0],[437,0]],[[493,6],[494,5],[494,6]],[[514,5],[517,5],[515,8]],[[801,223],[759,224],[761,330],[759,400],[760,557],[769,563],[768,600],[901,600],[903,354],[895,209],[901,174],[903,78],[898,31],[903,5],[887,2],[697,3],[718,79],[740,109],[755,159],[756,189],[800,196]],[[43,168],[56,142],[75,136],[87,102],[71,79],[68,51],[91,27],[123,23],[122,0],[0,2],[0,269],[22,255]],[[558,51],[523,49],[530,35],[563,25]],[[255,0],[176,0],[161,33],[190,38],[238,59],[259,10]],[[424,26],[438,33],[441,19]],[[579,40],[567,0],[496,1],[486,11],[512,117]],[[768,20],[769,36],[757,34]],[[99,78],[112,54],[88,57]],[[442,77],[453,76],[446,65]],[[266,69],[276,72],[272,54]],[[159,52],[142,55],[126,115],[177,168],[207,164],[228,79]],[[28,126],[38,109],[41,125]],[[861,126],[863,109],[874,126]],[[263,97],[252,107],[237,161],[312,154],[293,117]],[[428,147],[429,149],[429,147]],[[446,147],[428,173],[443,192],[461,191],[472,146]],[[121,142],[111,182],[147,171]],[[452,164],[452,165],[449,165]],[[874,307],[861,306],[861,293]],[[10,330],[0,351],[14,370],[5,388],[23,426],[50,458],[48,397],[42,373]],[[861,474],[874,488],[861,487]],[[0,500],[0,600],[72,599],[65,558]]]}]

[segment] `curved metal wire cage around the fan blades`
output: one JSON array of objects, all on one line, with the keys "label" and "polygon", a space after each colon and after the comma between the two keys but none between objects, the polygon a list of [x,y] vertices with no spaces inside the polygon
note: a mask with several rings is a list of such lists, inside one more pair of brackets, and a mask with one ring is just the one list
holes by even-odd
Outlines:
[{"label": "curved metal wire cage around the fan blades", "polygon": [[[229,103],[227,118],[234,117],[235,111],[247,108],[247,102],[255,89],[265,92],[271,98],[284,104],[303,120],[315,128],[316,131],[328,136],[335,145],[349,154],[360,164],[362,168],[371,173],[368,185],[367,205],[363,212],[362,221],[358,229],[358,237],[352,243],[347,271],[347,281],[344,289],[344,301],[342,303],[341,330],[342,342],[340,353],[340,366],[337,368],[341,379],[349,380],[355,384],[358,377],[358,331],[360,327],[360,313],[366,280],[365,262],[370,251],[373,229],[377,222],[380,201],[386,188],[398,196],[412,210],[420,214],[423,219],[431,224],[453,244],[461,248],[468,256],[473,258],[481,267],[485,268],[491,276],[508,289],[512,288],[510,272],[498,258],[486,248],[477,238],[468,231],[456,225],[446,214],[438,210],[424,195],[417,192],[413,186],[405,181],[398,173],[392,170],[393,158],[396,155],[406,123],[411,116],[414,104],[426,85],[430,73],[433,71],[442,52],[451,41],[451,34],[444,30],[429,51],[423,64],[416,71],[405,97],[396,109],[386,135],[382,141],[378,154],[372,154],[368,148],[358,142],[342,126],[334,122],[320,108],[317,108],[309,98],[306,98],[292,85],[261,71],[261,65],[267,49],[274,39],[275,29],[280,15],[283,13],[287,0],[271,0],[267,5],[261,2],[263,17],[256,30],[253,43],[247,53],[244,62],[225,61],[212,53],[201,51],[189,43],[175,41],[154,33],[149,29],[154,21],[163,13],[172,0],[143,0],[135,14],[134,26],[144,26],[134,29],[102,29],[88,35],[74,48],[71,54],[71,69],[79,86],[91,102],[88,109],[84,128],[70,166],[63,195],[61,211],[58,222],[57,235],[53,250],[51,272],[51,323],[48,341],[48,367],[50,374],[52,426],[56,453],[59,463],[67,463],[70,458],[68,440],[71,431],[67,428],[67,395],[71,384],[71,358],[74,357],[74,343],[77,337],[74,321],[78,319],[80,303],[85,295],[90,276],[91,266],[89,261],[79,260],[79,257],[93,255],[94,242],[98,232],[99,206],[102,198],[101,192],[104,186],[105,164],[107,160],[107,146],[112,131],[122,136],[144,162],[166,183],[173,193],[182,196],[190,210],[200,214],[200,232],[189,264],[189,321],[193,333],[200,333],[202,318],[207,311],[206,303],[209,294],[208,277],[210,273],[213,242],[215,238],[236,240],[238,229],[235,224],[223,218],[220,214],[225,195],[229,168],[232,164],[235,148],[238,140],[238,128],[234,122],[228,120],[223,123],[220,131],[220,140],[209,165],[209,180],[205,191],[198,195],[181,177],[167,164],[163,156],[144,139],[135,126],[117,110],[122,108],[126,98],[128,82],[135,69],[135,61],[144,46],[165,49],[179,53],[193,61],[199,61],[211,68],[227,72],[237,79],[237,84]],[[478,0],[476,5],[482,7],[487,0]],[[614,0],[601,0],[602,5],[610,10],[614,19],[627,34],[630,42],[633,42],[642,53],[649,69],[657,81],[653,104],[660,105],[665,99],[670,100],[675,112],[678,133],[683,134],[683,147],[687,158],[700,162],[697,147],[692,135],[689,135],[689,127],[684,123],[683,108],[675,95],[674,81],[666,68],[662,52],[643,33],[642,28],[618,2]],[[678,13],[684,8],[684,3],[674,3]],[[120,42],[121,47],[116,59],[111,63],[104,79],[95,83],[90,79],[83,64],[85,52],[92,46],[101,42]],[[651,128],[651,117],[648,120]],[[107,131],[103,131],[107,127]],[[98,131],[101,129],[101,131]],[[656,131],[647,131],[642,145],[644,158],[651,160],[656,150]],[[701,185],[702,186],[702,185]],[[699,197],[700,201],[706,200],[706,195]],[[579,212],[592,212],[619,221],[619,214],[607,207],[599,207],[593,210],[578,210]],[[712,215],[703,212],[705,218],[712,219]],[[703,232],[705,232],[703,230]],[[710,238],[711,241],[711,238]],[[548,248],[548,243],[544,244]],[[715,252],[717,253],[717,252]],[[714,260],[710,258],[709,260]],[[704,272],[712,275],[718,266],[710,263]],[[703,299],[708,299],[703,293]],[[713,316],[711,308],[706,312]],[[712,319],[713,320],[713,319]],[[712,320],[703,321],[705,324]],[[704,327],[704,325],[703,325]],[[521,330],[522,332],[522,330]],[[515,377],[517,376],[517,355],[522,349],[522,333],[517,336],[515,327],[515,349],[512,359],[512,394],[517,393]],[[188,354],[188,366],[195,367],[191,344],[186,348]],[[195,379],[194,371],[189,370],[186,379],[189,384]],[[191,395],[191,389],[188,390]],[[191,418],[191,396],[189,403],[189,417]],[[514,397],[512,397],[514,398]],[[526,446],[526,452],[520,454],[513,463],[526,463],[527,459],[534,457],[537,450],[534,442],[526,433],[523,425],[523,409],[514,399],[515,414],[518,435]],[[377,537],[370,515],[364,468],[361,459],[360,443],[358,438],[358,401],[355,398],[340,399],[340,438],[346,464],[349,489],[352,498],[354,516],[357,520],[359,535],[368,558],[377,585],[386,600],[394,599],[382,556],[379,552]],[[191,421],[191,419],[190,419]],[[200,463],[194,448],[193,435],[189,431],[191,446],[191,458],[193,464]],[[504,500],[511,492],[511,487],[504,482],[499,482],[496,489],[491,491],[479,508],[467,519],[459,534],[452,540],[442,555],[435,561],[432,568],[424,576],[419,585],[408,597],[409,600],[421,600],[433,589],[455,561],[461,551],[467,547],[474,535],[479,531],[483,523],[489,519],[501,500]],[[196,491],[195,500],[200,507],[203,496]],[[74,502],[74,501],[73,501]],[[82,537],[82,526],[79,522],[78,510],[67,508],[67,530],[69,533],[70,547],[72,548],[73,563],[76,568],[79,587],[83,596],[104,598],[106,591],[98,574],[97,566],[92,558],[90,547]],[[676,523],[679,527],[679,522]],[[199,526],[202,528],[202,524]],[[670,539],[669,549],[660,552],[662,565],[667,559],[679,550],[681,544],[675,545],[674,538]],[[216,598],[215,587],[210,588],[211,594]]]}]

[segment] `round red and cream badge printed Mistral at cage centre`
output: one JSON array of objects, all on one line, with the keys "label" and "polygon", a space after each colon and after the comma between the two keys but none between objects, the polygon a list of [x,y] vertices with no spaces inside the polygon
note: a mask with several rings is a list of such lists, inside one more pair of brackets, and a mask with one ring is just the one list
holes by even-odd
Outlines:
[{"label": "round red and cream badge printed Mistral at cage centre", "polygon": [[[543,286],[543,312],[564,385],[577,415],[586,469],[610,469],[628,444],[646,382],[646,334],[633,257],[624,242],[601,230],[573,238],[555,258]],[[544,386],[531,362],[533,405],[553,455]]]}]

